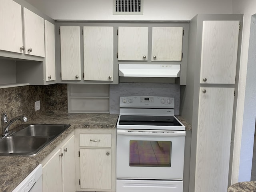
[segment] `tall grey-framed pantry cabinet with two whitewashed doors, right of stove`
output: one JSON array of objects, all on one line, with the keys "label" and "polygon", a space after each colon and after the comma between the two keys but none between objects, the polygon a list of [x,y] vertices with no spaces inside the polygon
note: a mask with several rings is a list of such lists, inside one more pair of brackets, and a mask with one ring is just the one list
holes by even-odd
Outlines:
[{"label": "tall grey-framed pantry cabinet with two whitewashed doors, right of stove", "polygon": [[192,124],[190,192],[228,188],[241,26],[242,15],[231,14],[198,14],[190,22],[180,104],[181,116]]}]

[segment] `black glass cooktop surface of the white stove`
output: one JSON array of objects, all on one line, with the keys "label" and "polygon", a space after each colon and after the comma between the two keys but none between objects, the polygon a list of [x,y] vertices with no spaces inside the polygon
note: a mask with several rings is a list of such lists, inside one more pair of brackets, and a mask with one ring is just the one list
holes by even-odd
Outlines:
[{"label": "black glass cooktop surface of the white stove", "polygon": [[182,126],[174,116],[121,115],[119,125]]}]

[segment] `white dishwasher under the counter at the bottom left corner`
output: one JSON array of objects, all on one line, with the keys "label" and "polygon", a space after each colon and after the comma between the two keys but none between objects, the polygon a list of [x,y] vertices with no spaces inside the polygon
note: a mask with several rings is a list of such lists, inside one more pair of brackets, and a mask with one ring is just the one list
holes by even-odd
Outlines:
[{"label": "white dishwasher under the counter at the bottom left corner", "polygon": [[42,192],[42,165],[39,164],[12,192]]}]

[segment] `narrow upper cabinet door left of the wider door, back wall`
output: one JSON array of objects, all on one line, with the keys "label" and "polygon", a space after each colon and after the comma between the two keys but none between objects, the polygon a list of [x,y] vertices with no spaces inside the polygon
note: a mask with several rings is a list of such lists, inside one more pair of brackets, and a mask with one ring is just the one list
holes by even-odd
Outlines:
[{"label": "narrow upper cabinet door left of the wider door, back wall", "polygon": [[80,27],[60,26],[61,79],[81,80]]}]

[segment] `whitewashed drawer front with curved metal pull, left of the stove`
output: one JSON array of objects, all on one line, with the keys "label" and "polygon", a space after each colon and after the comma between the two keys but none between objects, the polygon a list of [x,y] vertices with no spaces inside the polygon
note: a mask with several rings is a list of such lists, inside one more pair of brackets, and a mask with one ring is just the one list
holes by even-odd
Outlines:
[{"label": "whitewashed drawer front with curved metal pull, left of the stove", "polygon": [[80,147],[111,147],[111,134],[79,134]]}]

